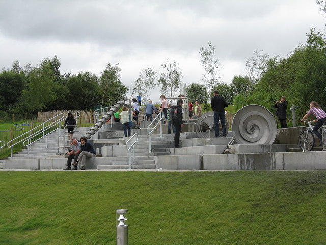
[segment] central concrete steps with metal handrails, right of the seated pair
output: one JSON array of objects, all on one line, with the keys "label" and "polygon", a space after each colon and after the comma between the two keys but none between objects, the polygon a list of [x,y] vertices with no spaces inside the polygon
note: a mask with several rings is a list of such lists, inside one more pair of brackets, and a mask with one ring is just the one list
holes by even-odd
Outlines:
[{"label": "central concrete steps with metal handrails, right of the seated pair", "polygon": [[[174,147],[174,134],[151,135],[152,150],[149,152],[149,136],[138,135],[138,142],[134,146],[135,162],[131,166],[132,169],[153,169],[156,168],[155,156],[171,155],[170,148]],[[128,138],[125,138],[127,141]],[[125,147],[124,147],[125,149]],[[122,148],[122,150],[124,150]],[[121,153],[123,154],[123,153]],[[127,156],[106,157],[103,154],[102,160],[110,164],[97,165],[98,170],[106,169],[128,169],[129,168],[129,154]]]}]

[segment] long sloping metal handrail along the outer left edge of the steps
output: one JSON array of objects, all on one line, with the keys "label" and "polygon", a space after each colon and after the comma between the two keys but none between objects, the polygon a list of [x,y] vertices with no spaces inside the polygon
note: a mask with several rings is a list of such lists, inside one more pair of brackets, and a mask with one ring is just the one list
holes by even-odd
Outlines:
[{"label": "long sloping metal handrail along the outer left edge of the steps", "polygon": [[[51,121],[51,120],[54,120],[54,119],[57,118],[57,117],[59,117],[59,119],[56,119],[56,121],[51,122],[49,125],[46,125],[46,126],[45,126],[45,124],[46,124],[47,122],[49,122],[49,121]],[[52,118],[48,119],[47,121],[43,122],[43,124],[40,124],[40,125],[38,125],[37,127],[33,128],[33,129],[31,129],[31,130],[29,130],[29,131],[27,131],[27,132],[25,132],[25,133],[19,135],[18,137],[16,137],[16,138],[10,140],[9,142],[7,142],[7,147],[8,147],[8,148],[11,148],[11,157],[12,157],[13,146],[15,146],[16,144],[19,144],[19,143],[21,143],[21,142],[25,142],[26,140],[30,140],[30,141],[31,141],[32,138],[33,138],[34,136],[36,136],[36,135],[38,135],[38,134],[40,134],[40,133],[43,134],[43,136],[41,137],[41,138],[43,138],[43,137],[45,136],[45,135],[44,135],[44,131],[47,131],[49,128],[51,128],[51,127],[55,126],[56,124],[60,123],[60,121],[61,121],[63,118],[64,118],[63,113],[60,113],[60,114],[58,114],[58,115],[56,115],[56,116],[53,116]],[[42,128],[39,129],[36,133],[33,133],[33,130],[36,130],[36,129],[40,128],[40,127],[42,127]],[[28,135],[28,134],[30,134],[30,135]],[[22,136],[24,136],[24,135],[28,135],[28,136],[25,136],[23,139],[19,140],[18,142],[13,143],[15,140],[17,140],[17,139],[19,139],[19,138],[22,138]],[[41,139],[41,138],[39,138],[39,139]],[[38,139],[38,140],[39,140],[39,139]],[[31,142],[32,142],[32,141],[31,141]]]}]

